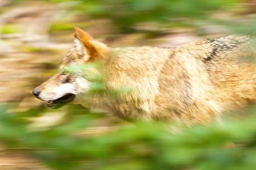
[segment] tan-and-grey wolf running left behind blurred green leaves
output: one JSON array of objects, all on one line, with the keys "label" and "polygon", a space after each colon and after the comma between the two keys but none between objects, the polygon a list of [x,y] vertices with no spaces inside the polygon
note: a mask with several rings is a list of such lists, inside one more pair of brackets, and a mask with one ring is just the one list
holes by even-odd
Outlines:
[{"label": "tan-and-grey wolf running left behind blurred green leaves", "polygon": [[[206,124],[225,111],[256,102],[256,67],[246,60],[255,56],[255,48],[248,35],[197,40],[176,48],[113,48],[79,27],[74,32],[76,45],[61,61],[59,72],[32,91],[49,107],[72,101],[123,119]],[[92,84],[86,72],[65,68],[94,62],[102,63],[105,89],[131,90],[114,98],[109,93],[86,98]]]}]

